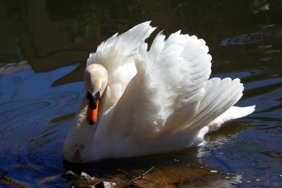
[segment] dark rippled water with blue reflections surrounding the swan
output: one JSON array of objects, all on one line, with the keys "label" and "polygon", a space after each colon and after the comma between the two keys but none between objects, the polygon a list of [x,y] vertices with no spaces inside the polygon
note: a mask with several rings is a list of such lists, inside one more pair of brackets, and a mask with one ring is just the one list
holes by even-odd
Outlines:
[{"label": "dark rippled water with blue reflections surrounding the swan", "polygon": [[[67,170],[121,183],[128,179],[116,168],[144,173],[152,165],[140,186],[282,187],[281,1],[1,1],[0,15],[0,187],[67,187]],[[257,110],[207,135],[204,146],[63,162],[87,56],[145,20],[166,35],[181,29],[205,39],[212,77],[240,77],[238,106]]]}]

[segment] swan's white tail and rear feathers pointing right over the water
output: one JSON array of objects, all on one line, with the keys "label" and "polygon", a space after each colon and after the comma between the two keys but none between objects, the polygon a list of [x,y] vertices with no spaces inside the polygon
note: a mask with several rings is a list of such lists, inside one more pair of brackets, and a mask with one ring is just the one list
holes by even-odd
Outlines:
[{"label": "swan's white tail and rear feathers pointing right over the water", "polygon": [[255,111],[255,106],[233,106],[243,96],[244,87],[238,78],[221,80],[214,77],[208,80],[204,89],[204,97],[189,127],[203,127],[207,124],[219,127],[228,120],[241,118]]}]

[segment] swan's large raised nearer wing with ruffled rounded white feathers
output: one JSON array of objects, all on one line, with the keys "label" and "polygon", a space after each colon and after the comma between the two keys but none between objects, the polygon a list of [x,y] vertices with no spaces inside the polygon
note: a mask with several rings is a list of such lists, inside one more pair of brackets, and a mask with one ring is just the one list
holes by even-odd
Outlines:
[{"label": "swan's large raised nearer wing with ruffled rounded white feathers", "polygon": [[180,32],[164,38],[157,35],[149,51],[143,43],[135,53],[137,74],[112,121],[123,134],[178,130],[197,113],[211,73],[208,47],[204,40]]}]

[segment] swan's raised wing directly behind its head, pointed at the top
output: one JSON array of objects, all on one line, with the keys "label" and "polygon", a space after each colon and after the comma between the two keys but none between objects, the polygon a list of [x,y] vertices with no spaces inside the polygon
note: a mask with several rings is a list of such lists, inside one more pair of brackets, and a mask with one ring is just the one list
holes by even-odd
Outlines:
[{"label": "swan's raised wing directly behind its head, pointed at the top", "polygon": [[150,22],[141,23],[127,32],[102,42],[95,53],[90,54],[87,66],[92,63],[104,65],[109,75],[106,107],[116,104],[125,86],[136,73],[133,52],[155,30]]}]

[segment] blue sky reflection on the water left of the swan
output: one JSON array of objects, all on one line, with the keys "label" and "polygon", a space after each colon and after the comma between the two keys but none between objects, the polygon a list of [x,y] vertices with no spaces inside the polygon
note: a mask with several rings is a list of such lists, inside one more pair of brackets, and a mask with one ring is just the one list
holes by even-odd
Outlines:
[{"label": "blue sky reflection on the water left of the swan", "polygon": [[0,168],[8,177],[39,186],[39,179],[63,173],[61,146],[72,118],[67,115],[78,108],[83,88],[79,82],[50,86],[76,67],[1,77]]}]

